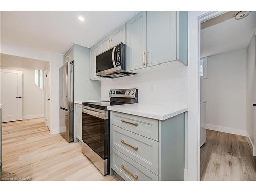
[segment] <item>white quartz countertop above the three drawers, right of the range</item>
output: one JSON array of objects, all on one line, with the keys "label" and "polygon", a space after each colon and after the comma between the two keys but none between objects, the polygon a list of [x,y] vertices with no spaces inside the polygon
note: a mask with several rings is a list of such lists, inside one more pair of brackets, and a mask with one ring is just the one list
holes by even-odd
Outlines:
[{"label": "white quartz countertop above the three drawers, right of the range", "polygon": [[158,120],[166,120],[187,111],[186,105],[179,104],[124,104],[108,106],[108,110],[121,113],[127,113],[131,115],[137,115],[141,117],[147,117]]}]

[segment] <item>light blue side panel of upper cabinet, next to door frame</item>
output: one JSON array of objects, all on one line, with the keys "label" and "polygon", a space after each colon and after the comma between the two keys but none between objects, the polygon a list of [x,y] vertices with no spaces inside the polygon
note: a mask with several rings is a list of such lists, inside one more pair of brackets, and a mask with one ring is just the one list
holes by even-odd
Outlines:
[{"label": "light blue side panel of upper cabinet, next to door frame", "polygon": [[177,60],[188,65],[188,11],[177,15]]}]

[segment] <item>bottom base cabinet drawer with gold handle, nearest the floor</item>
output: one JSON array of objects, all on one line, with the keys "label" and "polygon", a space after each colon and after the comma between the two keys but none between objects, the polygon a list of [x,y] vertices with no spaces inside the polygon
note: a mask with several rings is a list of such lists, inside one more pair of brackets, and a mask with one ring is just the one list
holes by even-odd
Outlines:
[{"label": "bottom base cabinet drawer with gold handle, nearest the floor", "polygon": [[111,168],[125,181],[158,181],[158,176],[111,147]]}]

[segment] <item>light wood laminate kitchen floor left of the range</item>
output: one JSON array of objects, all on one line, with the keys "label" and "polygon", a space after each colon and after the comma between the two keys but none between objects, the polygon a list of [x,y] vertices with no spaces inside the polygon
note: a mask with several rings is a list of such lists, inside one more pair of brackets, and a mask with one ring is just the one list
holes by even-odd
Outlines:
[{"label": "light wood laminate kitchen floor left of the range", "polygon": [[114,181],[103,176],[81,152],[80,143],[51,135],[44,119],[2,124],[3,172],[0,177],[50,181]]}]

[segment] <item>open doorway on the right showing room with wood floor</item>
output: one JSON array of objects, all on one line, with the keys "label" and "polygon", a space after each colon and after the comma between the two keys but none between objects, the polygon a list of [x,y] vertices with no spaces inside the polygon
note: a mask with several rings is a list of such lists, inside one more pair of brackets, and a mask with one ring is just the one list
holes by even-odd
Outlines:
[{"label": "open doorway on the right showing room with wood floor", "polygon": [[[253,138],[255,134],[254,123],[248,127],[250,116],[255,121],[256,100],[250,90],[255,85],[255,60],[251,65],[247,58],[255,59],[256,13],[241,20],[235,19],[236,13],[226,12],[201,23],[198,88],[203,181],[256,180],[256,159],[250,148],[254,142],[246,137],[251,127]],[[248,56],[251,41],[254,56]]]}]

